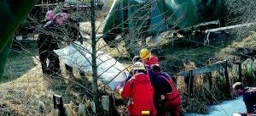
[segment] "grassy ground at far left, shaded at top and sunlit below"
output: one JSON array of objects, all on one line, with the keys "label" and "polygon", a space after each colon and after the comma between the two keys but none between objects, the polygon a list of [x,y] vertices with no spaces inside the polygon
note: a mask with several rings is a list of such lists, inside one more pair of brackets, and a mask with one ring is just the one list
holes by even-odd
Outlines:
[{"label": "grassy ground at far left, shaded at top and sunlit below", "polygon": [[61,95],[70,114],[76,115],[76,105],[72,102],[82,102],[80,93],[71,90],[67,95],[64,78],[44,76],[38,58],[29,55],[31,53],[10,53],[12,58],[9,58],[4,74],[7,79],[0,85],[0,115],[52,115],[54,94]]}]

